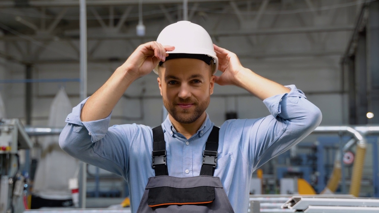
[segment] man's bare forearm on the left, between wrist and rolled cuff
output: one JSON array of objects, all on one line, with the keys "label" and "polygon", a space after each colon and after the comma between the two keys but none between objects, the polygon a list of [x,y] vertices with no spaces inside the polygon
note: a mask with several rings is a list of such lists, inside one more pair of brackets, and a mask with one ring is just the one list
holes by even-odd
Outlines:
[{"label": "man's bare forearm on the left, between wrist and rolled cuff", "polygon": [[107,117],[136,78],[125,67],[117,68],[105,84],[89,97],[81,110],[81,121],[97,121]]}]

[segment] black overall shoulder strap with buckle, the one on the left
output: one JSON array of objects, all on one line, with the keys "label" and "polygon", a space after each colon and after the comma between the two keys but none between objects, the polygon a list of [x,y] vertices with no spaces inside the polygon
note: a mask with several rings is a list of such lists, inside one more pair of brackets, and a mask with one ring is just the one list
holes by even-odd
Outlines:
[{"label": "black overall shoulder strap with buckle, the one on the left", "polygon": [[153,128],[153,152],[151,166],[155,170],[155,176],[168,175],[166,142],[162,126]]}]

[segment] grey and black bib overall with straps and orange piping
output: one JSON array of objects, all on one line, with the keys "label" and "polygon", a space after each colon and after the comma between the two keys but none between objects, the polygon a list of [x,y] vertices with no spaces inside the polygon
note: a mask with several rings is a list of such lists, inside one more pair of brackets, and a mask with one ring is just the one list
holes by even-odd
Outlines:
[{"label": "grey and black bib overall with straps and orange piping", "polygon": [[152,167],[137,213],[234,213],[219,177],[213,177],[217,166],[219,128],[213,127],[205,150],[200,175],[168,175],[166,142],[161,126],[153,128]]}]

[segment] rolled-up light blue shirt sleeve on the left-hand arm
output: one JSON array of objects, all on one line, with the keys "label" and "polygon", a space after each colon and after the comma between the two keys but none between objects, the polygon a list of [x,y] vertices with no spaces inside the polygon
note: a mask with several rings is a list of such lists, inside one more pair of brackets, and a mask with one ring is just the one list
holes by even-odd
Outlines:
[{"label": "rolled-up light blue shirt sleeve on the left-hand arm", "polygon": [[[97,121],[82,122],[87,99],[72,109],[60,134],[60,147],[72,157],[127,178],[128,149],[136,125],[109,127],[111,114]],[[109,127],[109,128],[108,128]]]}]

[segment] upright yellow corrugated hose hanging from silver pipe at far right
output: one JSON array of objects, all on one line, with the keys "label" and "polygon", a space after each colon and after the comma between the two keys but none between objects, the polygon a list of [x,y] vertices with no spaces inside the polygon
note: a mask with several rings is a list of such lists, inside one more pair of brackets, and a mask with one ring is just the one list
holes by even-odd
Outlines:
[{"label": "upright yellow corrugated hose hanging from silver pipe at far right", "polygon": [[356,157],[354,159],[351,186],[349,194],[359,196],[360,182],[362,180],[363,164],[365,163],[366,144],[357,144]]}]

